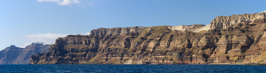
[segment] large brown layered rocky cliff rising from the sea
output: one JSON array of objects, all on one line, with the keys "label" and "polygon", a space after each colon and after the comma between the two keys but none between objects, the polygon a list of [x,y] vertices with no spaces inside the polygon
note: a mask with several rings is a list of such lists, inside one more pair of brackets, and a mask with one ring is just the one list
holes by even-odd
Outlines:
[{"label": "large brown layered rocky cliff rising from the sea", "polygon": [[56,39],[30,64],[266,64],[265,12],[207,26],[98,28]]}]

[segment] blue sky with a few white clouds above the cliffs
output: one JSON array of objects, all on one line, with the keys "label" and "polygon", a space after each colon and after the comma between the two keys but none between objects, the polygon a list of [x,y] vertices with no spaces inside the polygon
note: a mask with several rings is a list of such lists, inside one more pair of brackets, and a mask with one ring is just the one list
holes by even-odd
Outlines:
[{"label": "blue sky with a few white clouds above the cliffs", "polygon": [[0,50],[97,28],[207,25],[264,10],[265,0],[0,0]]}]

